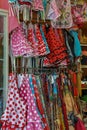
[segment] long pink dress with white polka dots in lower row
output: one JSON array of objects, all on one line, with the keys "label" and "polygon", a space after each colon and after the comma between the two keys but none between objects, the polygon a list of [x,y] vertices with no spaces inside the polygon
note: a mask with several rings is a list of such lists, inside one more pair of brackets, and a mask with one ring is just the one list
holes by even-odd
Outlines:
[{"label": "long pink dress with white polka dots in lower row", "polygon": [[43,130],[41,119],[37,112],[34,96],[29,86],[28,76],[24,76],[22,85],[20,87],[20,96],[26,103],[27,107],[27,128],[26,130]]}]

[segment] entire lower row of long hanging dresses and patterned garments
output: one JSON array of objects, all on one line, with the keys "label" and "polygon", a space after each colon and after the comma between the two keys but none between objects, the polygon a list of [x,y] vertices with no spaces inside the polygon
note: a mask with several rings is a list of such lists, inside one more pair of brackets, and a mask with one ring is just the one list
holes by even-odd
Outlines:
[{"label": "entire lower row of long hanging dresses and patterned garments", "polygon": [[81,116],[70,75],[11,73],[2,130],[75,130]]}]

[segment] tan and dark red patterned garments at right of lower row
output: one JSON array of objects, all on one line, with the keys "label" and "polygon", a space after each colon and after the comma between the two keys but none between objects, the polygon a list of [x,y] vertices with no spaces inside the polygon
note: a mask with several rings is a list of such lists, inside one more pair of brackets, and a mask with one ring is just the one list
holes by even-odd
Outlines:
[{"label": "tan and dark red patterned garments at right of lower row", "polygon": [[[60,74],[60,78],[58,78],[58,88],[62,101],[62,110],[64,115],[64,123],[67,130],[75,130],[75,124],[77,122],[77,117],[80,117],[78,107],[76,102],[74,101],[74,97],[72,96],[72,84],[71,79],[68,78],[68,74],[70,76],[70,72],[67,74]],[[72,77],[72,74],[71,74]],[[61,87],[63,89],[61,89]],[[81,117],[80,117],[81,118]]]}]

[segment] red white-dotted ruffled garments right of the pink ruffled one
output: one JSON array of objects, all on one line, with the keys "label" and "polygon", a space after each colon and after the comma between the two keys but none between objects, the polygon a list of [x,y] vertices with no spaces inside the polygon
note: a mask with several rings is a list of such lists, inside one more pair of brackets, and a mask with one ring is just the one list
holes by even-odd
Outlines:
[{"label": "red white-dotted ruffled garments right of the pink ruffled one", "polygon": [[46,44],[43,40],[40,28],[38,25],[33,26],[29,25],[28,29],[28,41],[31,43],[31,46],[34,51],[34,56],[42,56],[48,54],[46,50]]}]

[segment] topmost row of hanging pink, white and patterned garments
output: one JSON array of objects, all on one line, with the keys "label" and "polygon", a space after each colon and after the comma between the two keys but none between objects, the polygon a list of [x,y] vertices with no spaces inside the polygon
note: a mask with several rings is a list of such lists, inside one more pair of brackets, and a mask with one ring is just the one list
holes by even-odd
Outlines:
[{"label": "topmost row of hanging pink, white and patterned garments", "polygon": [[[9,7],[12,8],[20,21],[20,12],[23,14],[24,21],[30,21],[31,10],[36,11],[38,19],[50,20],[51,25],[56,28],[70,28],[73,25],[80,25],[87,21],[87,2],[83,0],[8,0]],[[32,12],[33,12],[32,11]],[[9,18],[15,17],[9,11]],[[11,14],[11,15],[10,15]],[[14,18],[15,22],[16,19]],[[38,20],[37,20],[38,21]],[[13,22],[10,19],[10,23]],[[9,24],[10,24],[9,23]],[[9,27],[10,28],[10,27]],[[9,32],[14,30],[9,29]]]}]

